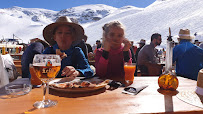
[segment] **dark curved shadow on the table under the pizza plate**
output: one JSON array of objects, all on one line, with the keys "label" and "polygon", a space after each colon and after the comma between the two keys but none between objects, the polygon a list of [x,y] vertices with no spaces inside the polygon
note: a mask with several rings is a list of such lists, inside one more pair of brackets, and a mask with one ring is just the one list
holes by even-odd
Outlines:
[{"label": "dark curved shadow on the table under the pizza plate", "polygon": [[86,97],[92,95],[98,95],[106,91],[106,88],[101,88],[94,91],[87,91],[87,92],[68,92],[68,91],[58,91],[54,89],[49,89],[49,94],[59,96],[59,97],[68,97],[68,98],[77,98],[77,97]]}]

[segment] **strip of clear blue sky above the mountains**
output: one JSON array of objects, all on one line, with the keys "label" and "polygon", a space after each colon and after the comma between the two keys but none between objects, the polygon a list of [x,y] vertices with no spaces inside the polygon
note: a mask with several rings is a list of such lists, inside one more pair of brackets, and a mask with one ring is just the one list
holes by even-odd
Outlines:
[{"label": "strip of clear blue sky above the mountains", "polygon": [[23,8],[44,8],[55,11],[85,4],[106,4],[120,8],[126,5],[144,8],[156,0],[1,0],[0,8],[19,6]]}]

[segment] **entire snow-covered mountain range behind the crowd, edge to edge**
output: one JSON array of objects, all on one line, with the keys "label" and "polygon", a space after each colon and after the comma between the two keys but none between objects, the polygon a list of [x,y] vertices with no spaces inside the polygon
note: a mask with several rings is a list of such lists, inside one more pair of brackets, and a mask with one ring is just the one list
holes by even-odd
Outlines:
[{"label": "entire snow-covered mountain range behind the crowd, edge to edge", "polygon": [[203,0],[156,0],[146,8],[91,4],[61,11],[12,7],[0,9],[0,36],[8,38],[15,34],[24,43],[35,37],[43,39],[44,27],[66,15],[84,27],[90,44],[102,37],[102,26],[114,20],[124,24],[126,38],[135,43],[142,38],[149,43],[153,33],[160,33],[162,46],[165,47],[169,27],[175,41],[179,30],[186,28],[191,30],[192,35],[197,34],[196,39],[203,41],[202,4]]}]

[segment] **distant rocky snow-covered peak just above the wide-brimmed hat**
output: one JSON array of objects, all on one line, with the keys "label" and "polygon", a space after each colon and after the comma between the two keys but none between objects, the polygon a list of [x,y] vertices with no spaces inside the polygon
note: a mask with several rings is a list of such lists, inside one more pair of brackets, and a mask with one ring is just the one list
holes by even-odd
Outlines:
[{"label": "distant rocky snow-covered peak just above the wide-brimmed hat", "polygon": [[76,19],[79,23],[95,22],[107,15],[113,13],[117,8],[97,4],[97,5],[82,5],[69,9],[61,10],[56,16],[68,16]]}]

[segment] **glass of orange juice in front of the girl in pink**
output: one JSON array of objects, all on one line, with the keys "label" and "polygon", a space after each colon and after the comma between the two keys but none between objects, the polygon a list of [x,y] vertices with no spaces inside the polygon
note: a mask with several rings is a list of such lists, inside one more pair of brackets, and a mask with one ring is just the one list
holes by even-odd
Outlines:
[{"label": "glass of orange juice in front of the girl in pink", "polygon": [[125,81],[131,81],[131,82],[133,82],[135,68],[136,68],[135,63],[125,63],[124,64]]}]

